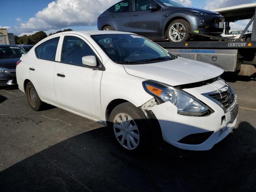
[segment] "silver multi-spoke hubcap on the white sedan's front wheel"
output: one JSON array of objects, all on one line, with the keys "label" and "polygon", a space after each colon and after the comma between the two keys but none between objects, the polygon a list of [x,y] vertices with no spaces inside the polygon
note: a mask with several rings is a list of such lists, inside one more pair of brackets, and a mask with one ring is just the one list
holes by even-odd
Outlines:
[{"label": "silver multi-spoke hubcap on the white sedan's front wheel", "polygon": [[140,142],[140,133],[134,120],[125,113],[114,118],[114,134],[118,142],[126,149],[135,149]]}]

